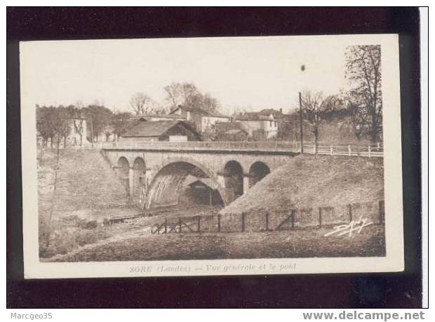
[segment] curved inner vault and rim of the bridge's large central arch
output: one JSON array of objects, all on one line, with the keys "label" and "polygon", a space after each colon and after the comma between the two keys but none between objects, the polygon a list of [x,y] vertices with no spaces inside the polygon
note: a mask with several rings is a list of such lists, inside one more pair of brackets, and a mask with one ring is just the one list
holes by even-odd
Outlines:
[{"label": "curved inner vault and rim of the bridge's large central arch", "polygon": [[157,206],[170,206],[180,201],[183,184],[190,175],[192,182],[194,178],[207,179],[213,183],[218,198],[222,205],[227,204],[225,189],[217,180],[217,175],[201,162],[190,158],[174,158],[165,161],[154,171],[151,184],[147,192],[147,208]]}]

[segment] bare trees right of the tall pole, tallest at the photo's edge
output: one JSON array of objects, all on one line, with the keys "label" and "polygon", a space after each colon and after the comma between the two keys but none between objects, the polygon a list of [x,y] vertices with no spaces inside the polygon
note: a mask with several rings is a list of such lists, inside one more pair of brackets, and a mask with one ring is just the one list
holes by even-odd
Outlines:
[{"label": "bare trees right of the tall pole, tallest at the photo's edge", "polygon": [[301,95],[302,115],[318,145],[322,123],[344,116],[358,142],[382,138],[382,73],[379,45],[349,46],[346,55],[346,77],[349,88],[337,95],[305,92]]}]

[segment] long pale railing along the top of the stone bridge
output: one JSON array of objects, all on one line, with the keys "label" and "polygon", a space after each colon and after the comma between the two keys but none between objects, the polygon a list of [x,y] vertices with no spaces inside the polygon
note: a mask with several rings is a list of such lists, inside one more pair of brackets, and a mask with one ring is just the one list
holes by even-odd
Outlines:
[{"label": "long pale railing along the top of the stone bridge", "polygon": [[269,151],[269,152],[300,152],[298,142],[268,141],[268,142],[234,142],[234,141],[203,141],[203,142],[105,142],[102,149],[157,149],[157,150],[217,150],[217,151]]}]

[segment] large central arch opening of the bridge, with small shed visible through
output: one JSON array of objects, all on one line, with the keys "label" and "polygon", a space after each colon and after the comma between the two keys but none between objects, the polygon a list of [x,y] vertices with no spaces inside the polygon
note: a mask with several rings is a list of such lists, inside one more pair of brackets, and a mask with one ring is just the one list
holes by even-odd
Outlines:
[{"label": "large central arch opening of the bridge, with small shed visible through", "polygon": [[177,161],[159,170],[149,187],[147,208],[179,205],[222,207],[219,185],[206,169]]}]

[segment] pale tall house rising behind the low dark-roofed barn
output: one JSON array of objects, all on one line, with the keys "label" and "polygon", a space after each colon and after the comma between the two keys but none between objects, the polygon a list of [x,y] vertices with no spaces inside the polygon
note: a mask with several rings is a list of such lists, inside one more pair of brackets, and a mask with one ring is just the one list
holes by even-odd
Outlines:
[{"label": "pale tall house rising behind the low dark-roofed barn", "polygon": [[228,122],[229,117],[217,112],[211,112],[197,107],[184,107],[179,105],[170,112],[170,115],[182,117],[186,121],[192,122],[200,133],[213,130],[216,123]]}]

